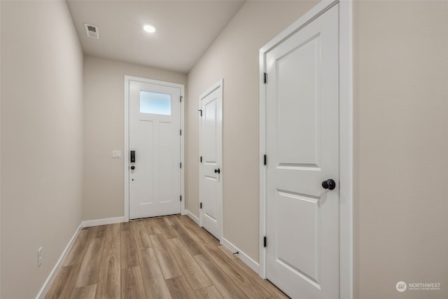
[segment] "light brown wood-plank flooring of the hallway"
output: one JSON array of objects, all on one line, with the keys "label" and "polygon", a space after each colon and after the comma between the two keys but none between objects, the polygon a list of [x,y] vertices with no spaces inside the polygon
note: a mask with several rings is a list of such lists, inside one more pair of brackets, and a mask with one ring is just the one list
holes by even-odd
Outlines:
[{"label": "light brown wood-plank flooring of the hallway", "polygon": [[45,298],[288,298],[188,216],[81,230]]}]

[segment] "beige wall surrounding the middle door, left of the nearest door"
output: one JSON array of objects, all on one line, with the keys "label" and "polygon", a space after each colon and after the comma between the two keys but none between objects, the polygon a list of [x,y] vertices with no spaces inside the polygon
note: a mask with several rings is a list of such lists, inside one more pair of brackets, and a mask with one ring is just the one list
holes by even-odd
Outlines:
[{"label": "beige wall surrounding the middle door, left of the nearest door", "polygon": [[199,216],[199,97],[223,90],[224,237],[258,261],[258,50],[312,1],[248,1],[188,74],[187,209]]}]

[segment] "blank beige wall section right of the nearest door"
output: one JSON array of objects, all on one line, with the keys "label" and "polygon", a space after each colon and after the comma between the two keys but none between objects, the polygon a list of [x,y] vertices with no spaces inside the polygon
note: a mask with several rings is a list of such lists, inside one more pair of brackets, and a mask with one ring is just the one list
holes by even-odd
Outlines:
[{"label": "blank beige wall section right of the nearest door", "polygon": [[353,15],[356,298],[448,298],[448,1],[362,1]]}]

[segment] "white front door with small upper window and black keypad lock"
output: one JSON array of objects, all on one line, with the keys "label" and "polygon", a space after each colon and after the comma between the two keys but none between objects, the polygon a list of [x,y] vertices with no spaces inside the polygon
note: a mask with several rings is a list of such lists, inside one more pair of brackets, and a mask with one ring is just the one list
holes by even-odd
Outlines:
[{"label": "white front door with small upper window and black keypad lock", "polygon": [[181,90],[130,81],[130,219],[181,211]]}]

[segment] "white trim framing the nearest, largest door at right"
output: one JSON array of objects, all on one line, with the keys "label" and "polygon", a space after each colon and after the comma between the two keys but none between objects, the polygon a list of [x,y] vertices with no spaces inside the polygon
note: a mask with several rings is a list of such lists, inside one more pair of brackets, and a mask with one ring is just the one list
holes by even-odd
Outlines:
[{"label": "white trim framing the nearest, largest door at right", "polygon": [[[272,48],[339,3],[339,298],[353,298],[353,84],[352,0],[324,0],[260,49],[260,163],[266,153],[265,57]],[[268,78],[269,80],[269,78]],[[269,157],[268,157],[269,158]],[[266,168],[260,167],[260,276],[266,278]]]}]

